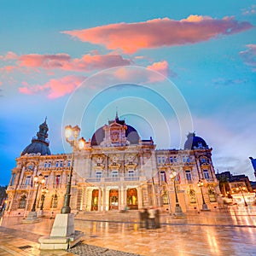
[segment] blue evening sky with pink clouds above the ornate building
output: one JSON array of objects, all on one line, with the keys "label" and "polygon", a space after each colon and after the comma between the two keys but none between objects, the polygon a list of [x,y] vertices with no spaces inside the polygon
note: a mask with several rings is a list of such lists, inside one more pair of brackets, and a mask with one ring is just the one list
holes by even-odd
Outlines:
[{"label": "blue evening sky with pink clouds above the ornate building", "polygon": [[52,154],[114,119],[183,148],[190,131],[215,172],[256,158],[254,1],[2,1],[0,185],[47,117]]}]

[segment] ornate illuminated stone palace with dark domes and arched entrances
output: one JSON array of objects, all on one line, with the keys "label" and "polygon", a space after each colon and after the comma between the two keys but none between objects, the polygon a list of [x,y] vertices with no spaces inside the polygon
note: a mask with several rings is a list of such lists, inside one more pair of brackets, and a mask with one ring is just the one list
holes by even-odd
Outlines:
[{"label": "ornate illuminated stone palace with dark domes and arched entrances", "polygon": [[[72,154],[51,154],[46,120],[36,138],[16,159],[7,193],[7,212],[24,215],[33,202],[50,216],[61,211],[67,189]],[[212,148],[189,133],[183,150],[155,149],[152,138],[142,140],[136,129],[116,115],[99,128],[82,149],[74,148],[71,191],[73,211],[109,211],[175,207],[171,172],[177,172],[175,185],[183,212],[201,209],[202,196],[209,209],[218,207],[218,180],[212,165]],[[36,187],[33,177],[41,175],[45,183]],[[197,183],[202,180],[204,186]],[[42,187],[48,193],[42,193]],[[202,190],[201,190],[202,189]],[[202,191],[202,194],[201,194]],[[171,207],[171,208],[170,208]],[[41,211],[41,214],[43,212]]]}]

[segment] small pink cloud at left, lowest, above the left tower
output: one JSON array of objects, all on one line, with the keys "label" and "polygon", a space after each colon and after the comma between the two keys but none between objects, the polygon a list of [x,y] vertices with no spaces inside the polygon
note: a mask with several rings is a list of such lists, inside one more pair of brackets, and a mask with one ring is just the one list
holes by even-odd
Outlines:
[{"label": "small pink cloud at left, lowest, above the left tower", "polygon": [[44,85],[29,85],[23,82],[23,87],[20,87],[19,90],[20,93],[29,95],[46,92],[49,99],[55,99],[73,92],[84,79],[85,77],[82,76],[66,76],[61,79],[50,79]]}]

